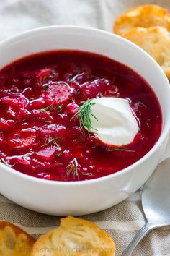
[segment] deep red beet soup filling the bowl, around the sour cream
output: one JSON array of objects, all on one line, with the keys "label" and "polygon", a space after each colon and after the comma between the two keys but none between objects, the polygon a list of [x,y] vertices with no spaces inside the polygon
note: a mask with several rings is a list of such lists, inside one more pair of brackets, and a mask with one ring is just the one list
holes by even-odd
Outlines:
[{"label": "deep red beet soup filling the bowl, around the sour cream", "polygon": [[[140,129],[123,147],[81,129],[82,102],[126,98]],[[82,51],[27,56],[0,71],[0,158],[23,174],[78,181],[114,174],[146,155],[161,134],[161,108],[150,85],[124,64]]]}]

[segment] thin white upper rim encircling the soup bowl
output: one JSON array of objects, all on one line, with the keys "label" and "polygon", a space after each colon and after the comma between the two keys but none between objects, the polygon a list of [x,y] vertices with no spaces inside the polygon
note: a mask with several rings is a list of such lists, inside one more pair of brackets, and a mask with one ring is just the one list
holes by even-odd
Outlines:
[{"label": "thin white upper rim encircling the soup bowl", "polygon": [[[101,35],[108,35],[113,38],[117,38],[117,40],[122,41],[122,43],[126,43],[128,46],[136,48],[137,51],[140,51],[141,54],[146,56],[148,60],[152,62],[152,64],[156,67],[158,72],[161,74],[162,80],[164,80],[164,83],[169,85],[169,80],[167,79],[166,75],[164,74],[164,71],[161,69],[161,67],[158,65],[158,63],[142,48],[139,46],[135,45],[135,43],[130,42],[129,40],[122,38],[120,35],[115,35],[114,33],[105,31],[105,30],[100,30],[98,28],[93,28],[93,27],[85,27],[85,26],[76,26],[76,25],[51,25],[51,26],[43,26],[43,27],[37,27],[34,29],[26,30],[22,33],[17,33],[16,35],[12,35],[9,38],[6,38],[5,40],[2,40],[0,42],[0,48],[1,46],[5,45],[6,43],[10,43],[13,40],[17,40],[19,38],[23,38],[25,35],[30,35],[31,33],[39,33],[40,31],[43,30],[75,30],[76,32],[94,32],[94,33],[100,33]],[[68,31],[67,31],[68,33]],[[90,35],[89,35],[90,36]],[[102,54],[104,56],[104,54]],[[145,77],[144,77],[145,78]],[[157,96],[157,95],[156,95]],[[159,101],[158,101],[159,102]],[[160,102],[159,102],[160,103]],[[160,103],[161,106],[161,103]],[[169,86],[169,112],[170,112],[170,86]],[[9,166],[5,166],[4,163],[0,163],[0,167],[7,171],[8,173],[10,172],[11,175],[18,176],[21,179],[27,179],[30,182],[36,182],[39,184],[47,184],[51,186],[82,186],[82,185],[91,185],[91,184],[98,184],[100,182],[105,182],[109,179],[115,179],[117,176],[122,176],[125,173],[128,173],[130,171],[133,171],[133,168],[136,166],[139,166],[141,163],[146,161],[148,158],[153,155],[153,153],[158,150],[158,147],[166,140],[166,136],[169,135],[170,131],[170,119],[166,119],[164,127],[162,127],[161,130],[161,135],[158,138],[157,142],[155,145],[153,145],[153,148],[146,153],[146,155],[143,155],[142,158],[140,158],[138,161],[133,163],[132,165],[123,168],[120,171],[117,171],[114,174],[109,174],[107,176],[102,176],[97,179],[89,179],[89,180],[83,180],[83,181],[75,181],[75,182],[61,182],[61,181],[51,181],[51,180],[46,180],[46,179],[40,179],[34,176],[30,176],[28,174],[23,174],[13,168],[10,168]]]}]

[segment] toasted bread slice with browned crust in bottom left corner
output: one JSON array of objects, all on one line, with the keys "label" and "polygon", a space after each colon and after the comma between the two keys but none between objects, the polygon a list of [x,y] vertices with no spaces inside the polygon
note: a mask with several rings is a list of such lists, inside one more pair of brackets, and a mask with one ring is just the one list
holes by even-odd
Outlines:
[{"label": "toasted bread slice with browned crust in bottom left corner", "polygon": [[35,239],[19,227],[0,221],[0,255],[30,256]]}]

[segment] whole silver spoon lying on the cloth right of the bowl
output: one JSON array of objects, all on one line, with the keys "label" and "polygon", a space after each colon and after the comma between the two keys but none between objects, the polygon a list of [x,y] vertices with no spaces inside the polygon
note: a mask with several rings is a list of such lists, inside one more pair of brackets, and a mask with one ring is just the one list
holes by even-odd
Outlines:
[{"label": "whole silver spoon lying on the cloth right of the bowl", "polygon": [[122,256],[130,256],[143,237],[152,229],[170,225],[170,158],[159,163],[156,171],[144,184],[142,206],[146,225],[138,231]]}]

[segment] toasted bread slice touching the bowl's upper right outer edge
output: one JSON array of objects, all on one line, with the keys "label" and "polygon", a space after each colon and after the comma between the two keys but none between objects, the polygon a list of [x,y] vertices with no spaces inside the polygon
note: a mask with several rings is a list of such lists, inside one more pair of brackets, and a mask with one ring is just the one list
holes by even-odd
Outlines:
[{"label": "toasted bread slice touching the bowl's upper right outer edge", "polygon": [[164,27],[134,27],[124,37],[147,51],[170,80],[170,33]]}]

